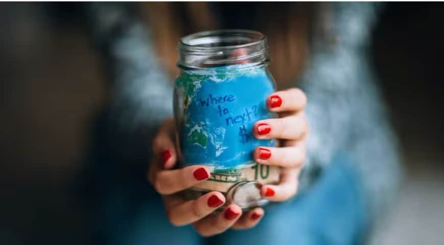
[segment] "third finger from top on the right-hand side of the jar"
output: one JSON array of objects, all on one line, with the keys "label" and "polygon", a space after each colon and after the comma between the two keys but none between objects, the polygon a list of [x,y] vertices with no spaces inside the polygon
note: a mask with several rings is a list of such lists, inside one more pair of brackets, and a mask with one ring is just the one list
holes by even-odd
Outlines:
[{"label": "third finger from top on the right-hand side of the jar", "polygon": [[291,147],[256,147],[253,156],[259,164],[301,168],[305,160],[305,144]]}]

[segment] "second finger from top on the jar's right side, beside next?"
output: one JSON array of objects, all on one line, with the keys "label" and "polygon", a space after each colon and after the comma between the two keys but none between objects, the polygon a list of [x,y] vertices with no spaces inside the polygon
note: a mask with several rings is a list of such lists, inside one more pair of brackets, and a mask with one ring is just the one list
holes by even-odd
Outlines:
[{"label": "second finger from top on the jar's right side, beside next?", "polygon": [[303,112],[297,115],[257,121],[253,134],[257,139],[302,139],[308,132],[308,124]]}]

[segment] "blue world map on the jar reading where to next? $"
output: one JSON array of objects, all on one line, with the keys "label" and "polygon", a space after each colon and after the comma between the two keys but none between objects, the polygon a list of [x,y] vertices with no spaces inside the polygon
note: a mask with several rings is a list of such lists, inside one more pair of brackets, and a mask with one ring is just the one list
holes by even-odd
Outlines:
[{"label": "blue world map on the jar reading where to next? $", "polygon": [[256,147],[275,145],[275,140],[258,140],[252,133],[256,121],[276,117],[265,103],[274,91],[264,66],[183,70],[175,89],[182,164],[207,165],[214,171],[255,164]]}]

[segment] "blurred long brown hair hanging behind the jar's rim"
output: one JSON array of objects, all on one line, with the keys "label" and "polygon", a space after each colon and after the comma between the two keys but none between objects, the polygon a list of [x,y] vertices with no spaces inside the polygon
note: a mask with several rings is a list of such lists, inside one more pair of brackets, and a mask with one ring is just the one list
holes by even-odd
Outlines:
[{"label": "blurred long brown hair hanging behind the jar's rim", "polygon": [[[252,26],[268,37],[270,71],[278,87],[294,86],[308,58],[308,39],[313,5],[307,3],[256,3]],[[157,55],[164,69],[175,76],[179,70],[177,43],[193,32],[220,29],[209,3],[145,3],[142,13],[150,26]]]}]

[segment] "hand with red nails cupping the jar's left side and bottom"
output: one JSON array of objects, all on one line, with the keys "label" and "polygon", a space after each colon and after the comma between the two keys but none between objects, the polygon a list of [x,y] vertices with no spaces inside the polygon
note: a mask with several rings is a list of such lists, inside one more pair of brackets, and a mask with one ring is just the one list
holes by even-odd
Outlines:
[{"label": "hand with red nails cupping the jar's left side and bottom", "polygon": [[175,226],[193,224],[202,236],[216,235],[229,228],[255,226],[264,214],[262,208],[254,208],[242,215],[239,206],[230,204],[222,212],[214,212],[226,202],[220,192],[209,192],[196,200],[182,198],[179,192],[207,180],[210,169],[203,165],[172,169],[177,161],[174,132],[174,121],[166,120],[153,141],[148,174],[149,181],[163,197],[169,221]]}]

